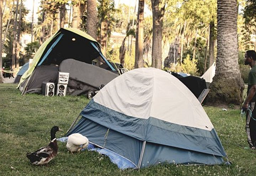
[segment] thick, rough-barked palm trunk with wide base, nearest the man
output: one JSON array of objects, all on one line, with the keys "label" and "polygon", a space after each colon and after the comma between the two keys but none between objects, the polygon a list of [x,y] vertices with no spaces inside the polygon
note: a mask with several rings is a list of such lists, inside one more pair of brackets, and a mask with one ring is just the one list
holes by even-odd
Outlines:
[{"label": "thick, rough-barked palm trunk with wide base, nearest the man", "polygon": [[210,84],[210,103],[240,105],[244,83],[238,67],[237,0],[218,0],[216,74]]}]

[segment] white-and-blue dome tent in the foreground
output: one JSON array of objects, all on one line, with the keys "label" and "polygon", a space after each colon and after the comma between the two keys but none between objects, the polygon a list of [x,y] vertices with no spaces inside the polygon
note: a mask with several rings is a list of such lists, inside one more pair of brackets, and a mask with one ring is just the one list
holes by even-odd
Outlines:
[{"label": "white-and-blue dome tent in the foreground", "polygon": [[226,153],[193,93],[154,68],[128,71],[102,88],[67,133],[81,133],[133,168],[162,162],[221,164]]}]

